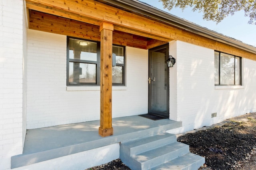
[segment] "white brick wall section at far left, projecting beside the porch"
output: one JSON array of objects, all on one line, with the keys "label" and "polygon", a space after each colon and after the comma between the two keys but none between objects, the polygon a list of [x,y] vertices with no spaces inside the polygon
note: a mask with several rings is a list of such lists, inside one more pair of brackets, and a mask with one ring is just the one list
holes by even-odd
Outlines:
[{"label": "white brick wall section at far left, projecting beside the porch", "polygon": [[0,169],[21,154],[23,1],[0,1]]}]

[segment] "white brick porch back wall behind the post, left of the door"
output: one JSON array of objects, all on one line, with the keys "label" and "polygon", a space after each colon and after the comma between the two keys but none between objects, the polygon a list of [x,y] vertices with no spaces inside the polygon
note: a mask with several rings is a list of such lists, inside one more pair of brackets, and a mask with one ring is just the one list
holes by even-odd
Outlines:
[{"label": "white brick porch back wall behind the post, left of the door", "polygon": [[[112,117],[148,110],[148,51],[127,47],[126,53],[127,87],[113,87]],[[66,90],[66,36],[28,30],[27,68],[28,129],[100,119],[99,87]]]}]

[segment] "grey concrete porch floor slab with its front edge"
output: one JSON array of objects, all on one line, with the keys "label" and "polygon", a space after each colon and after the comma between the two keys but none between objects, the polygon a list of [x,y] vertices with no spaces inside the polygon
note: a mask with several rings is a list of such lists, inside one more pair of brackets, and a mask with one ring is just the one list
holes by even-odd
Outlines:
[{"label": "grey concrete porch floor slab with its front edge", "polygon": [[113,118],[114,135],[108,137],[98,135],[99,125],[97,120],[27,130],[23,154],[12,157],[12,168],[152,136],[181,127],[182,122],[153,121],[138,115]]}]

